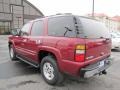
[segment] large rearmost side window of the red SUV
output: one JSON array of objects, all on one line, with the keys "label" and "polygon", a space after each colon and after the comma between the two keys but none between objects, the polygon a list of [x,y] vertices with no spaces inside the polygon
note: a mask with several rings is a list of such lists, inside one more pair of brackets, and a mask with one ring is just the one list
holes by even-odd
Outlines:
[{"label": "large rearmost side window of the red SUV", "polygon": [[76,37],[72,16],[53,17],[48,20],[48,35]]}]

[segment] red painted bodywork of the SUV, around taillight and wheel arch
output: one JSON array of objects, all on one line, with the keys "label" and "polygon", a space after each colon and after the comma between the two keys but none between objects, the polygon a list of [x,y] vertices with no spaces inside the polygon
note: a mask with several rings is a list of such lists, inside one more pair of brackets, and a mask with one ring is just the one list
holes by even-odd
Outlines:
[{"label": "red painted bodywork of the SUV, around taillight and wheel arch", "polygon": [[[85,67],[86,65],[94,63],[98,60],[103,60],[110,55],[110,40],[105,41],[105,39],[82,39],[47,36],[47,23],[48,20],[46,18],[44,19],[43,36],[11,36],[9,37],[9,42],[12,42],[14,44],[15,50],[19,54],[30,58],[35,63],[40,62],[38,59],[38,52],[40,52],[41,50],[53,53],[57,58],[57,64],[60,71],[74,76],[79,76],[80,69]],[[24,39],[26,39],[27,41],[24,42]],[[37,44],[36,41],[39,40],[41,43]],[[79,44],[86,45],[85,62],[75,62],[74,60],[75,47]]]}]

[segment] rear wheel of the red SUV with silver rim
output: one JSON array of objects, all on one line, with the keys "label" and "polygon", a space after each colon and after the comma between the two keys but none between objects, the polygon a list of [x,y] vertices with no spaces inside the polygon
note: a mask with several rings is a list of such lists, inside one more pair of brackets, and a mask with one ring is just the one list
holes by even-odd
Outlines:
[{"label": "rear wheel of the red SUV with silver rim", "polygon": [[46,56],[41,61],[41,74],[50,85],[61,84],[64,81],[63,74],[59,71],[56,60],[52,56]]}]

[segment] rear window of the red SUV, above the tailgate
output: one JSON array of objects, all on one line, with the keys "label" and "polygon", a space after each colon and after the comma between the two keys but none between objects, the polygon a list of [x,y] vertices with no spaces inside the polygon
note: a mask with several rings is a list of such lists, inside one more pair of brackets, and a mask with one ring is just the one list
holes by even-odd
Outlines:
[{"label": "rear window of the red SUV, above the tailgate", "polygon": [[106,26],[96,20],[79,17],[82,24],[83,36],[86,38],[110,38],[109,30]]}]

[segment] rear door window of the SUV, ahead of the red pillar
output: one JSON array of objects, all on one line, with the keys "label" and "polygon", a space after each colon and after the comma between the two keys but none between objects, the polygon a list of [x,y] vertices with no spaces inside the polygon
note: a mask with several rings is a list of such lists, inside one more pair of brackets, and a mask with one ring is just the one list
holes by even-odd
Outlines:
[{"label": "rear door window of the SUV, ahead of the red pillar", "polygon": [[31,36],[43,35],[43,31],[44,31],[43,21],[36,21],[33,23]]}]

